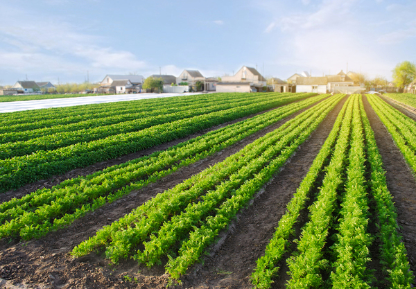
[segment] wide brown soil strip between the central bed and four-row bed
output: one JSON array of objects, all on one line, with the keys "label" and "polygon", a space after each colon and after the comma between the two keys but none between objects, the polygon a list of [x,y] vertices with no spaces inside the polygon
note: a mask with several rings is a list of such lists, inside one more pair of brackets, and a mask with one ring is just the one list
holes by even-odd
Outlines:
[{"label": "wide brown soil strip between the central bed and four-row bed", "polygon": [[[196,265],[197,270],[192,268],[182,278],[183,288],[252,288],[250,276],[256,261],[263,256],[288,202],[331,132],[345,100],[347,97],[329,112],[252,205],[239,213],[225,233],[222,245],[217,245],[215,252],[205,258],[204,265]],[[282,269],[280,272],[285,272]],[[279,283],[283,287],[275,288],[284,288],[285,282]]]}]

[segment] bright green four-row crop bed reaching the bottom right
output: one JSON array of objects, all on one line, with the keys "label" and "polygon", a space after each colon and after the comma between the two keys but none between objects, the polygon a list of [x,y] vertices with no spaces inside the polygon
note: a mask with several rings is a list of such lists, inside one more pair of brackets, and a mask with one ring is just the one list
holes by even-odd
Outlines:
[{"label": "bright green four-row crop bed reaching the bottom right", "polygon": [[[410,288],[413,282],[406,249],[397,231],[397,214],[385,183],[385,171],[374,133],[361,96],[350,98],[349,103],[348,100],[345,103],[347,111],[338,115],[329,138],[288,204],[288,211],[279,221],[265,256],[257,261],[252,274],[256,288],[270,288],[272,279],[277,277],[279,268],[276,265],[287,252],[293,225],[300,210],[304,209],[311,188],[319,186],[315,179],[322,172],[326,175],[318,188],[318,197],[309,207],[309,222],[302,228],[300,240],[295,240],[297,252],[286,260],[291,277],[287,287],[318,288],[331,284],[333,288],[370,288],[374,279],[367,264],[371,261],[369,247],[374,238],[379,238],[381,243],[381,264],[390,288]],[[377,96],[368,98],[372,105],[373,100],[382,102]],[[387,109],[383,107],[383,112]],[[343,118],[343,124],[339,130],[340,118]],[[338,140],[332,149],[331,143],[337,138],[338,130]],[[324,159],[329,161],[327,167],[323,165]],[[369,196],[376,203],[375,215],[379,225],[376,236],[371,236],[367,230]],[[331,236],[334,244],[328,247],[330,230],[336,234]]]}]

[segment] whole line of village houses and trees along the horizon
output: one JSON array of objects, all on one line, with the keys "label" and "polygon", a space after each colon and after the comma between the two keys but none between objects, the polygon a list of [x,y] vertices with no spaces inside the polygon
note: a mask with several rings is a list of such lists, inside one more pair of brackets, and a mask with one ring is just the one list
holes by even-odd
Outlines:
[{"label": "whole line of village houses and trees along the horizon", "polygon": [[415,94],[415,64],[405,61],[393,70],[393,81],[378,76],[372,80],[363,73],[340,70],[334,75],[312,76],[311,72],[294,73],[286,80],[264,77],[253,67],[243,66],[233,76],[205,77],[198,70],[185,69],[179,76],[153,74],[144,76],[107,74],[101,82],[52,84],[19,80],[0,87],[0,96],[28,94],[139,94],[185,92],[315,92],[318,94],[360,94],[368,91],[407,92]]}]

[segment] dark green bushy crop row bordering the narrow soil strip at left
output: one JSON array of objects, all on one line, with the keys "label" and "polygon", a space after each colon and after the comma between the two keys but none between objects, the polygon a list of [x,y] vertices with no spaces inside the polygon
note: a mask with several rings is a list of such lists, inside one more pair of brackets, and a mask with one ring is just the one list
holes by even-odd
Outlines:
[{"label": "dark green bushy crop row bordering the narrow soil strip at left", "polygon": [[282,100],[272,98],[269,101],[254,103],[245,107],[234,107],[229,110],[155,125],[139,132],[117,134],[105,139],[77,143],[53,151],[45,152],[41,150],[32,155],[0,160],[0,193],[51,175],[66,173],[73,168],[82,168],[98,161],[113,159],[173,139],[186,137],[214,125],[262,112],[292,101],[291,98],[283,98]]}]

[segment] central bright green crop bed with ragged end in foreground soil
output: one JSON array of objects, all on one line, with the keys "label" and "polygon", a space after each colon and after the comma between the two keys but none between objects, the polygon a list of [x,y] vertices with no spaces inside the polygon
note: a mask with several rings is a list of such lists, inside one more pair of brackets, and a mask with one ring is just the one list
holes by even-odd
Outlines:
[{"label": "central bright green crop bed with ragged end in foreground soil", "polygon": [[[225,161],[157,195],[75,247],[73,256],[105,247],[107,258],[114,262],[133,255],[152,265],[160,256],[171,256],[171,238],[175,238],[184,242],[179,256],[169,261],[167,271],[173,278],[179,277],[342,97],[324,100]],[[216,213],[210,216],[209,212]],[[135,254],[137,246],[148,238],[148,250]],[[153,252],[150,247],[159,249]]]}]

